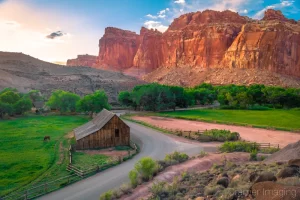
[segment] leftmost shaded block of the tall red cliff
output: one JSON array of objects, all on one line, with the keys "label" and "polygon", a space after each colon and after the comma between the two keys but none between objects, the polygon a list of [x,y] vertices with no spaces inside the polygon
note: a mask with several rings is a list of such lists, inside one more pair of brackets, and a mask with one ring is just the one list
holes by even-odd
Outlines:
[{"label": "leftmost shaded block of the tall red cliff", "polygon": [[132,67],[139,43],[139,35],[134,32],[113,27],[106,28],[99,41],[97,66],[110,70]]}]

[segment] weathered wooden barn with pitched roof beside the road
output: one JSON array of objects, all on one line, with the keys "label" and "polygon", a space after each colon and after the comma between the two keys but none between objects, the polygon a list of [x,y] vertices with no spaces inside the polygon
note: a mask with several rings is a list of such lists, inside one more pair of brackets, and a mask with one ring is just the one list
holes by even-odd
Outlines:
[{"label": "weathered wooden barn with pitched roof beside the road", "polygon": [[130,145],[130,128],[116,114],[103,109],[88,123],[74,129],[76,149]]}]

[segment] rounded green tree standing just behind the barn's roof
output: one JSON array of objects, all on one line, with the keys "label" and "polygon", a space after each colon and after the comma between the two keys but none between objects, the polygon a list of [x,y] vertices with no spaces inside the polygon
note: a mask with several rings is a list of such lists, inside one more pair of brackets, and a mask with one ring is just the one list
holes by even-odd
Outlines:
[{"label": "rounded green tree standing just behind the barn's roof", "polygon": [[77,103],[79,111],[90,112],[91,116],[95,112],[100,112],[103,108],[111,108],[108,97],[103,90],[97,90],[93,94],[86,95]]}]

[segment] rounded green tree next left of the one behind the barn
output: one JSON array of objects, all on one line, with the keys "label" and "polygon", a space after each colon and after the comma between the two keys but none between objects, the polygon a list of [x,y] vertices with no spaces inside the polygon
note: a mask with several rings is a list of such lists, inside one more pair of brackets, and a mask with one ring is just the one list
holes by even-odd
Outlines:
[{"label": "rounded green tree next left of the one behind the barn", "polygon": [[60,112],[75,112],[77,102],[80,97],[77,94],[56,90],[52,92],[51,97],[46,103],[51,109],[59,110]]}]

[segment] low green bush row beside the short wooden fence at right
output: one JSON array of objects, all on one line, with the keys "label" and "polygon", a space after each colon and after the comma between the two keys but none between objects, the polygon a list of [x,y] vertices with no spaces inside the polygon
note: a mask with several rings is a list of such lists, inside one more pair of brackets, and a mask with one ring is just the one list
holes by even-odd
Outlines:
[{"label": "low green bush row beside the short wooden fence at right", "polygon": [[259,145],[257,143],[249,143],[243,141],[225,142],[221,145],[220,151],[222,152],[248,152],[259,151]]}]

